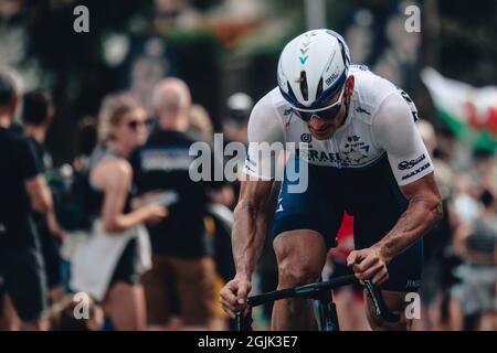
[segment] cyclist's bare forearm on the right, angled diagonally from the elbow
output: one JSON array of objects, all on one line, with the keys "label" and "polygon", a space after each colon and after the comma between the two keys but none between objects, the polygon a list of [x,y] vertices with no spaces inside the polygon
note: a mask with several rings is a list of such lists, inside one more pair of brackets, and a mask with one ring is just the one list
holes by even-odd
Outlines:
[{"label": "cyclist's bare forearm on the right, angled diagonally from the elbow", "polygon": [[442,205],[437,200],[413,197],[395,226],[374,247],[380,249],[387,263],[426,234],[442,218]]}]

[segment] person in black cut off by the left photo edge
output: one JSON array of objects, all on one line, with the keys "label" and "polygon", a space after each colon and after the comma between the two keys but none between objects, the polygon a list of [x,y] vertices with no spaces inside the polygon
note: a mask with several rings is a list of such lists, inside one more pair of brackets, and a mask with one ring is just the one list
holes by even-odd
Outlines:
[{"label": "person in black cut off by the left photo edge", "polygon": [[0,277],[20,329],[42,330],[45,278],[31,208],[47,214],[53,204],[31,143],[9,130],[19,101],[13,78],[0,72]]}]

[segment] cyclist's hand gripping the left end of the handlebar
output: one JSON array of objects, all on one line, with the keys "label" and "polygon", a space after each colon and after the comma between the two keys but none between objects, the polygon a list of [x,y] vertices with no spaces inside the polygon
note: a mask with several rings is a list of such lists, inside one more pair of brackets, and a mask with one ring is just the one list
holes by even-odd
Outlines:
[{"label": "cyclist's hand gripping the left end of the handlebar", "polygon": [[246,315],[248,308],[246,298],[252,289],[252,284],[246,279],[234,278],[229,281],[220,291],[220,302],[224,311],[234,318],[235,311],[243,310]]}]

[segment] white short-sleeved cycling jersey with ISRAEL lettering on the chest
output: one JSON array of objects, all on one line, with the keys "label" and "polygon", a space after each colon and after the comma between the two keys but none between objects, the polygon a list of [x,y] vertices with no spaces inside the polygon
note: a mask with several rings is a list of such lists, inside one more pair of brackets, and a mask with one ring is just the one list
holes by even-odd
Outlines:
[{"label": "white short-sleeved cycling jersey with ISRAEL lettering on the chest", "polygon": [[[327,140],[315,139],[276,87],[254,106],[248,120],[244,172],[272,180],[275,156],[260,153],[258,142],[308,142],[303,159],[330,168],[368,168],[387,153],[399,185],[433,171],[415,126],[416,108],[409,96],[367,66],[352,65],[355,88],[343,125]],[[267,160],[271,159],[271,160]]]}]

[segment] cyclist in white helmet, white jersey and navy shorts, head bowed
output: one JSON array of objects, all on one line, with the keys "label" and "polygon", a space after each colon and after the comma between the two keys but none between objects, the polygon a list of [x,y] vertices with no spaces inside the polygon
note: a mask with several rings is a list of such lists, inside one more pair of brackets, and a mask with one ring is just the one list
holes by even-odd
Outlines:
[{"label": "cyclist in white helmet, white jersey and navy shorts, head bowed", "polygon": [[[442,216],[433,164],[415,128],[416,110],[405,93],[366,66],[350,65],[343,39],[314,30],[283,50],[278,87],[254,107],[248,121],[248,156],[235,208],[233,253],[236,275],[220,293],[233,314],[246,310],[254,266],[265,235],[264,205],[275,178],[275,153],[257,142],[308,142],[287,161],[272,234],[278,288],[319,279],[327,249],[345,211],[355,217],[356,250],[347,258],[358,279],[381,286],[389,309],[402,310],[416,291],[422,236]],[[304,192],[292,193],[288,170],[307,168]],[[293,167],[293,169],[290,169]],[[406,329],[373,314],[372,329]],[[273,330],[313,329],[311,306],[303,299],[276,301]]]}]

